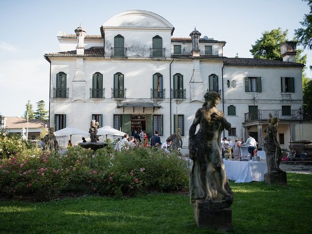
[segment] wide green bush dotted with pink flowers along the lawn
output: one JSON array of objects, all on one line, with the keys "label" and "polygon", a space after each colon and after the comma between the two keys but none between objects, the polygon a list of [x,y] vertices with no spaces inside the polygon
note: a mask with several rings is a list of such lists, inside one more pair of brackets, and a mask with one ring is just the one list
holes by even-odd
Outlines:
[{"label": "wide green bush dotted with pink flowers along the lawn", "polygon": [[188,188],[188,162],[149,147],[57,152],[24,150],[0,159],[0,194],[47,199],[62,193],[135,195]]}]

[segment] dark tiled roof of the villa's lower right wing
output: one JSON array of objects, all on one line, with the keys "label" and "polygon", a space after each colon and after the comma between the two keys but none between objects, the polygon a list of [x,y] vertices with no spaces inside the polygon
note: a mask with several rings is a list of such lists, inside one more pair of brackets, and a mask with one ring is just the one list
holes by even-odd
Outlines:
[{"label": "dark tiled roof of the villa's lower right wing", "polygon": [[297,62],[284,62],[269,59],[251,59],[251,58],[227,58],[224,59],[224,65],[228,66],[278,66],[278,67],[304,67],[305,65]]}]

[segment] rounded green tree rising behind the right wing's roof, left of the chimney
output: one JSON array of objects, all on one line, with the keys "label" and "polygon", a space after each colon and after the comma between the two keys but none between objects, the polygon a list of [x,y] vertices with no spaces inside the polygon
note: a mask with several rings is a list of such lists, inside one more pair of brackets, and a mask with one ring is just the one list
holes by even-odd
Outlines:
[{"label": "rounded green tree rising behind the right wing's roof, left of the chimney", "polygon": [[279,46],[287,40],[287,33],[288,30],[283,32],[281,28],[265,31],[250,52],[255,59],[283,60]]}]

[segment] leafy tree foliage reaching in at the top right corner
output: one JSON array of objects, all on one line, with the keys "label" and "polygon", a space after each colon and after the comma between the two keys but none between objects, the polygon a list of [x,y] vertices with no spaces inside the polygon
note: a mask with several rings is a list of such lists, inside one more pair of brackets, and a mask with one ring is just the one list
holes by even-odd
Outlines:
[{"label": "leafy tree foliage reaching in at the top right corner", "polygon": [[[294,30],[294,35],[297,37],[299,43],[303,48],[312,49],[312,0],[304,0],[308,2],[310,13],[305,14],[303,21],[300,22],[302,28]],[[310,68],[311,69],[311,68]]]}]

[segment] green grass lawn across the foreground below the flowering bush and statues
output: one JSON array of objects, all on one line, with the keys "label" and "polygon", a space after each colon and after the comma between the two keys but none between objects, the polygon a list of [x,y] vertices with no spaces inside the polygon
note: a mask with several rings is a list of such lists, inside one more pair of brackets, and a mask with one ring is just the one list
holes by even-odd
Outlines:
[{"label": "green grass lawn across the foreground below the flowering bush and statues", "polygon": [[[229,233],[312,233],[312,175],[288,173],[288,186],[234,183]],[[2,234],[220,233],[197,229],[187,195],[86,196],[0,202]],[[222,232],[221,232],[222,233]]]}]

